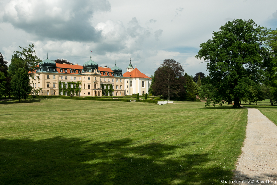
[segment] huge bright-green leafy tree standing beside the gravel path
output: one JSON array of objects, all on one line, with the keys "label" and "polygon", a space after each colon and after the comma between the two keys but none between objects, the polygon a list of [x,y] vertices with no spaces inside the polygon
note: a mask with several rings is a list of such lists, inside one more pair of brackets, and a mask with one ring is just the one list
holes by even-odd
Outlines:
[{"label": "huge bright-green leafy tree standing beside the gravel path", "polygon": [[[239,100],[249,86],[258,83],[263,67],[261,29],[253,20],[236,19],[228,21],[218,32],[213,32],[211,39],[200,44],[195,57],[207,62],[210,77],[209,84],[201,87],[206,105],[234,101],[233,108],[239,108]],[[207,91],[203,92],[204,89]]]}]

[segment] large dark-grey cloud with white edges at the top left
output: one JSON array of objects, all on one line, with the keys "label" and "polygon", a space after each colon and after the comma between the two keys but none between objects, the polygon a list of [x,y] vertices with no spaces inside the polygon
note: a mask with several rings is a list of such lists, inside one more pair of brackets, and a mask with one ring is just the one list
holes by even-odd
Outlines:
[{"label": "large dark-grey cloud with white edges at the top left", "polygon": [[38,39],[98,41],[101,32],[91,26],[90,19],[96,11],[110,11],[107,0],[23,1],[7,3],[2,20]]}]

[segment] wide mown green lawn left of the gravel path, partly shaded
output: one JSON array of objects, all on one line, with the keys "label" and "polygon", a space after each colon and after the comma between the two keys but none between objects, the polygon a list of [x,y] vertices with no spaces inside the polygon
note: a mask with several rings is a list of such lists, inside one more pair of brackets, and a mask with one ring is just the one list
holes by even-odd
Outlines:
[{"label": "wide mown green lawn left of the gravel path, partly shaded", "polygon": [[41,98],[0,117],[0,184],[221,184],[247,109]]}]

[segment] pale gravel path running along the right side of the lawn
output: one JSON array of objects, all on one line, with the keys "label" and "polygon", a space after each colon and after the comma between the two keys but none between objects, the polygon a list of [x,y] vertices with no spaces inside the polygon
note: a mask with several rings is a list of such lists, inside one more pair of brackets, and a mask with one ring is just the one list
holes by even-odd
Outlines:
[{"label": "pale gravel path running along the right side of the lawn", "polygon": [[236,164],[234,180],[277,184],[277,126],[258,109],[248,108],[247,116],[246,139]]}]

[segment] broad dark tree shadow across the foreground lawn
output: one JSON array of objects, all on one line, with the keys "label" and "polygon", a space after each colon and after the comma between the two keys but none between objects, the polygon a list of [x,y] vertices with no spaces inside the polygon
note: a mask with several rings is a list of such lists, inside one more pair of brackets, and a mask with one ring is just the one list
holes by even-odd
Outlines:
[{"label": "broad dark tree shadow across the foreground lawn", "polygon": [[212,162],[207,153],[170,157],[190,143],[136,143],[0,139],[0,184],[221,184],[232,178],[230,170],[205,167]]}]

